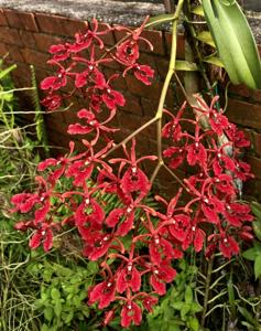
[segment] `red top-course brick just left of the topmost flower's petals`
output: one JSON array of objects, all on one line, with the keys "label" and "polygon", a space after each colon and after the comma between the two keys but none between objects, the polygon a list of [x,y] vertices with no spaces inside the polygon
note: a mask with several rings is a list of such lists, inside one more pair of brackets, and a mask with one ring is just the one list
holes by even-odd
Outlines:
[{"label": "red top-course brick just left of the topmost flower's petals", "polygon": [[74,36],[87,26],[84,21],[44,13],[36,13],[36,21],[42,32],[66,36]]}]

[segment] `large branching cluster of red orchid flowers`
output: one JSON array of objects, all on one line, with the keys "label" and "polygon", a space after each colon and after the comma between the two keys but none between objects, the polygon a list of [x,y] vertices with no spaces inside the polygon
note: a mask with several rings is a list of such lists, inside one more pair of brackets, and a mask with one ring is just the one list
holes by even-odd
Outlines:
[{"label": "large branching cluster of red orchid flowers", "polygon": [[[113,88],[120,74],[106,79],[102,64],[116,61],[123,66],[122,76],[133,74],[145,85],[152,84],[153,70],[139,63],[140,41],[153,49],[141,35],[144,24],[135,30],[113,26],[100,31],[94,20],[93,30],[77,33],[74,43],[51,46],[48,63],[57,71],[41,84],[47,92],[43,105],[52,111],[74,94],[85,99],[86,108],[77,113],[78,122],[68,127],[72,136],[85,135],[85,151],[75,152],[70,141],[67,154],[40,162],[35,192],[19,193],[11,200],[13,212],[28,214],[15,228],[32,229],[32,249],[43,245],[50,250],[54,234],[68,227],[78,232],[83,255],[100,267],[88,291],[88,303],[98,303],[106,311],[105,324],[120,313],[123,328],[139,325],[142,312],[152,311],[175,278],[174,263],[185,250],[204,249],[207,257],[220,250],[230,258],[239,253],[240,241],[252,238],[250,207],[237,200],[235,184],[251,177],[249,164],[240,161],[241,149],[249,141],[217,110],[218,97],[208,106],[197,96],[198,109],[184,103],[175,115],[164,109],[167,121],[162,139],[168,141],[163,151],[165,167],[174,173],[189,166],[193,174],[181,180],[177,194],[170,201],[156,195],[159,209],[146,204],[153,183],[142,168],[144,160],[159,162],[159,156],[138,158],[133,135],[123,143],[113,141],[118,128],[109,124],[126,99]],[[126,36],[107,49],[102,36],[111,30],[126,32]],[[58,93],[68,84],[73,85],[69,93]],[[186,116],[192,110],[196,111],[195,119]],[[208,118],[208,128],[202,128],[202,117]],[[122,150],[121,158],[112,158],[116,149]],[[67,179],[66,189],[63,178]],[[102,201],[106,193],[121,202],[108,213]]]}]

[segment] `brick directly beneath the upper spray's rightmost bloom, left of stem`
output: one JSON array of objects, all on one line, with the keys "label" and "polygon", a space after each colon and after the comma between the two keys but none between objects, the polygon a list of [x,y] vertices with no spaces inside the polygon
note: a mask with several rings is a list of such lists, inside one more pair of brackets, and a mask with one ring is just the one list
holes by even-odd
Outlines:
[{"label": "brick directly beneath the upper spray's rightmost bloom, left of stem", "polygon": [[131,93],[138,96],[146,96],[149,99],[157,100],[161,95],[162,83],[153,82],[152,85],[144,85],[132,75],[126,76],[127,86]]}]

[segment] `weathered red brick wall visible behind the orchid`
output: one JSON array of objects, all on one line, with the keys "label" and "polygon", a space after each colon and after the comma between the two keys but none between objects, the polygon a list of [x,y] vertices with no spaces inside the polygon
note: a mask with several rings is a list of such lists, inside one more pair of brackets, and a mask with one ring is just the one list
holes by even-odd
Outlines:
[{"label": "weathered red brick wall visible behind the orchid", "polygon": [[[13,78],[18,87],[31,85],[29,65],[35,66],[37,82],[51,74],[51,67],[46,65],[50,45],[64,40],[69,41],[75,32],[84,29],[88,22],[70,18],[52,15],[46,13],[20,12],[11,9],[0,9],[0,56],[9,53],[8,61],[17,63],[18,70]],[[104,23],[102,26],[106,26]],[[162,31],[145,31],[144,35],[154,44],[154,52],[148,53],[142,46],[141,60],[150,63],[155,70],[156,81],[152,86],[144,86],[132,76],[119,82],[118,88],[127,97],[127,104],[118,113],[113,125],[120,126],[122,131],[117,134],[121,140],[131,130],[141,126],[152,117],[157,106],[157,99],[162,82],[167,70],[167,55],[171,45],[171,35]],[[119,40],[119,33],[111,33],[104,42],[112,45]],[[180,35],[177,42],[177,57],[184,57],[184,38]],[[110,63],[105,66],[105,73],[110,75],[117,71],[117,65]],[[24,109],[30,109],[30,100],[22,95]],[[175,107],[181,99],[181,93],[175,86],[168,90],[167,107]],[[74,98],[72,111],[56,113],[46,116],[46,126],[52,145],[67,147],[69,137],[66,134],[67,125],[76,119],[76,110],[84,106],[80,99]],[[251,163],[255,180],[248,183],[247,192],[261,200],[261,90],[249,90],[243,86],[229,88],[229,103],[227,115],[229,119],[238,124],[251,140],[251,149],[246,156]],[[155,128],[150,127],[138,139],[141,151],[155,152]],[[150,167],[150,166],[148,166]],[[148,169],[150,170],[150,169]],[[161,184],[171,186],[168,175],[163,174]]]}]

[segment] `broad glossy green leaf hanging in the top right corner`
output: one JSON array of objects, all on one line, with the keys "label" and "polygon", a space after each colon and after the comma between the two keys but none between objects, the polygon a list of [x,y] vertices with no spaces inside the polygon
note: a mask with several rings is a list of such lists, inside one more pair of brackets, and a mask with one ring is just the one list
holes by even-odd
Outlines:
[{"label": "broad glossy green leaf hanging in the top right corner", "polygon": [[219,57],[233,84],[261,88],[261,65],[252,32],[237,1],[203,0]]}]

